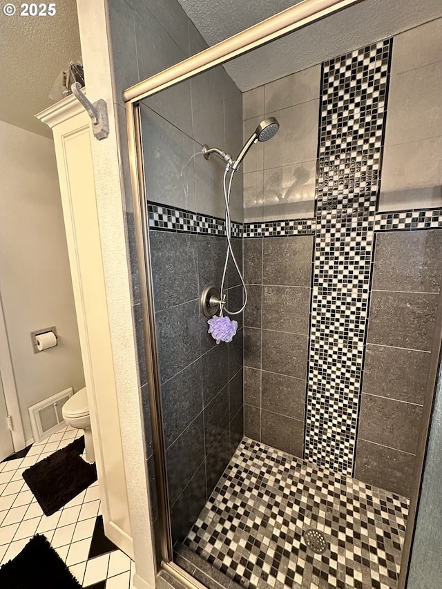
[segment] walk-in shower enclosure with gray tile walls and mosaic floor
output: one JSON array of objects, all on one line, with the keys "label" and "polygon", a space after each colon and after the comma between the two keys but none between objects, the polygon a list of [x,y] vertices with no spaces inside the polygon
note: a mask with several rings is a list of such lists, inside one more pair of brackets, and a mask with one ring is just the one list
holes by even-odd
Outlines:
[{"label": "walk-in shower enclosure with gray tile walls and mosaic floor", "polygon": [[[125,93],[157,557],[189,587],[405,587],[442,199],[397,169],[441,117],[432,64],[407,62],[440,29],[267,69],[244,92],[229,72],[247,55],[204,61],[193,30],[194,58]],[[402,108],[417,79],[430,115],[419,95]],[[278,133],[258,137],[268,119]],[[245,303],[227,342],[209,333],[208,285],[209,315]]]}]

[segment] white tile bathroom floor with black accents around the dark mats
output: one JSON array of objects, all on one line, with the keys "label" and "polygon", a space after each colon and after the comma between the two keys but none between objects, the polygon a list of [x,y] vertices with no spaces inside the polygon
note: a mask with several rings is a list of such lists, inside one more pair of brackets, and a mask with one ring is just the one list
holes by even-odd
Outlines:
[{"label": "white tile bathroom floor with black accents around the dark mats", "polygon": [[34,534],[44,534],[83,587],[132,588],[134,563],[104,537],[98,483],[47,517],[21,473],[81,435],[65,427],[20,458],[0,463],[0,565],[14,558]]}]

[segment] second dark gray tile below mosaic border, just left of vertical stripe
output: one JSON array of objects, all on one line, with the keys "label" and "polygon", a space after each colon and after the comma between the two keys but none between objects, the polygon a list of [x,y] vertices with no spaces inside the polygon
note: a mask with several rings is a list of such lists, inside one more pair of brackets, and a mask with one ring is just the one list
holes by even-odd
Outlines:
[{"label": "second dark gray tile below mosaic border, just left of vertical stripe", "polygon": [[307,287],[262,288],[262,328],[309,333],[310,289]]}]

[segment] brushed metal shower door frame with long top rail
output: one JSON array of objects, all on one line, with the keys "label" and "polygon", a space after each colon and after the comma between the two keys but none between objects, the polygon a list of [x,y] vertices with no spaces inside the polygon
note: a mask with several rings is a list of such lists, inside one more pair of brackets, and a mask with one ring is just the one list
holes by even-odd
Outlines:
[{"label": "brushed metal shower door frame with long top rail", "polygon": [[[234,35],[229,39],[221,41],[215,46],[203,50],[188,59],[184,59],[184,61],[181,61],[175,66],[171,66],[171,68],[155,74],[152,77],[141,81],[139,84],[135,84],[135,86],[131,86],[131,88],[124,90],[122,95],[124,102],[126,103],[126,126],[135,221],[135,242],[140,277],[140,298],[144,346],[146,351],[147,385],[151,409],[153,454],[160,525],[160,561],[163,570],[169,572],[169,574],[175,577],[175,579],[178,579],[189,589],[204,589],[204,586],[173,562],[171,513],[169,508],[166,454],[162,425],[160,370],[155,333],[153,282],[148,235],[148,211],[144,177],[140,101],[144,98],[160,93],[166,88],[175,86],[181,81],[190,79],[195,75],[222,65],[235,57],[240,57],[255,48],[288,35],[290,32],[293,32],[298,28],[307,26],[314,21],[333,14],[334,12],[343,10],[343,8],[347,8],[352,4],[359,3],[360,1],[361,0],[304,0],[277,15],[238,33],[238,35]],[[442,334],[442,293],[436,325],[436,336],[440,336]],[[430,376],[436,375],[438,371],[441,358],[441,342],[439,340],[434,342],[433,352],[432,367],[430,367],[429,371]],[[431,383],[430,380],[431,379],[429,378],[427,389],[432,387],[433,390],[430,394],[432,394],[432,400],[434,400],[435,383]],[[423,427],[425,435],[423,435],[417,456],[419,462],[415,474],[414,493],[410,501],[410,518],[405,533],[398,589],[405,589],[407,584],[416,514],[419,508],[419,497],[421,494],[425,454],[430,433],[431,415],[432,403],[427,403],[427,410],[423,416],[423,421],[425,422]]]}]

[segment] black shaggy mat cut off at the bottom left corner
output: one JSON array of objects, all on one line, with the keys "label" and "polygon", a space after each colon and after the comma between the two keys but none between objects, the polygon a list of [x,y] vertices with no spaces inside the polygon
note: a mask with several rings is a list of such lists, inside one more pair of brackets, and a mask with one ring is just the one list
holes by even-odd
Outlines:
[{"label": "black shaggy mat cut off at the bottom left corner", "polygon": [[0,568],[1,589],[81,589],[81,585],[52,548],[37,534],[15,559]]}]

